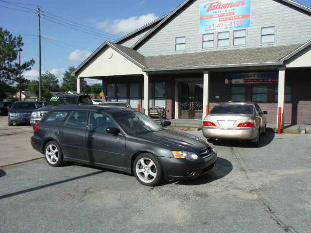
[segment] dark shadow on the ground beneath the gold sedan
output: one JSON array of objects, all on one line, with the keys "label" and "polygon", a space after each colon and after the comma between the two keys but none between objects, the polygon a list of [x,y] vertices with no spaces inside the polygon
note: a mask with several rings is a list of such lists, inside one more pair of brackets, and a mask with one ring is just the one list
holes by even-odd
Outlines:
[{"label": "dark shadow on the ground beneath the gold sedan", "polygon": [[260,148],[269,145],[274,138],[275,133],[266,133],[266,135],[261,135],[259,140],[259,146],[254,146],[249,141],[231,139],[217,139],[213,144],[215,146],[222,147]]}]

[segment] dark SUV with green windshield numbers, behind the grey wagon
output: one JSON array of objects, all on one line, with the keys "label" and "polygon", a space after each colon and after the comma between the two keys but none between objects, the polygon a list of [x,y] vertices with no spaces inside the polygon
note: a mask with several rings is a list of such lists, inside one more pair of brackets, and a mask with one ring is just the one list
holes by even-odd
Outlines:
[{"label": "dark SUV with green windshield numbers, behind the grey wagon", "polygon": [[30,117],[30,124],[34,127],[35,123],[39,122],[52,107],[68,104],[92,105],[93,102],[87,94],[57,94],[48,100],[44,107],[33,111]]}]

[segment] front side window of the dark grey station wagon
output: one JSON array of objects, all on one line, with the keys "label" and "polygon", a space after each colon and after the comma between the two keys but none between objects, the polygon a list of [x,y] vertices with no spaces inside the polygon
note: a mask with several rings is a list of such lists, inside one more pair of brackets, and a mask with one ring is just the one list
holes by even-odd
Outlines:
[{"label": "front side window of the dark grey station wagon", "polygon": [[106,133],[106,129],[109,127],[117,127],[109,116],[102,113],[91,112],[88,125],[90,131]]}]

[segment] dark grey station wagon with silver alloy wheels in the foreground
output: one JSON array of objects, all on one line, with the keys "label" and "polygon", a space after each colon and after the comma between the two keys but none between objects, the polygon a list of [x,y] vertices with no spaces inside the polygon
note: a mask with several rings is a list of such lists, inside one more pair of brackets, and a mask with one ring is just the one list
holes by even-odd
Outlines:
[{"label": "dark grey station wagon with silver alloy wheels in the foreground", "polygon": [[154,186],[162,179],[193,179],[217,154],[201,138],[165,128],[149,116],[114,106],[63,106],[35,124],[31,144],[50,166],[71,161],[134,173]]}]

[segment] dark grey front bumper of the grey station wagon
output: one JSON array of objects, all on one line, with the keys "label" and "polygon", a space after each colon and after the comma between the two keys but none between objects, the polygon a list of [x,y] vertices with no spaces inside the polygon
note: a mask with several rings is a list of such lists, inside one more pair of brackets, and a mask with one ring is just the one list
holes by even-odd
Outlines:
[{"label": "dark grey front bumper of the grey station wagon", "polygon": [[166,180],[190,180],[206,174],[213,168],[217,160],[217,154],[212,153],[207,158],[196,160],[159,157]]}]

